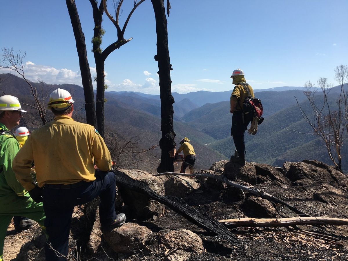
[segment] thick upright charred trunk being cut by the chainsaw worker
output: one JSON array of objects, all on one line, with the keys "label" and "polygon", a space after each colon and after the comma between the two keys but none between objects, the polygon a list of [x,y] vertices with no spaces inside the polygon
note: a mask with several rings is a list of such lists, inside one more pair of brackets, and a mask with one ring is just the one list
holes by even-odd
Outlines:
[{"label": "thick upright charred trunk being cut by the chainsaw worker", "polygon": [[168,49],[167,18],[165,14],[163,0],[151,0],[155,11],[156,33],[157,33],[157,54],[155,60],[158,61],[159,88],[161,98],[161,132],[162,137],[159,141],[161,148],[161,163],[157,171],[174,172],[173,158],[169,156],[169,151],[175,148],[175,133],[173,127],[173,103],[171,89],[171,64]]}]

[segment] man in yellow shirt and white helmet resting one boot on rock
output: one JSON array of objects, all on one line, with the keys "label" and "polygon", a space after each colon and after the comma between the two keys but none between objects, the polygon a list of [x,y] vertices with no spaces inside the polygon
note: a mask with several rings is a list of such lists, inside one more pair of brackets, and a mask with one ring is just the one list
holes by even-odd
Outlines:
[{"label": "man in yellow shirt and white helmet resting one boot on rock", "polygon": [[[102,231],[126,221],[124,213],[115,211],[116,177],[110,171],[110,152],[93,126],[71,118],[73,103],[68,91],[54,90],[48,103],[54,120],[33,131],[13,160],[18,181],[35,202],[43,201],[48,234],[45,255],[50,261],[66,260],[74,206],[99,196]],[[33,161],[38,185],[30,174]]]}]

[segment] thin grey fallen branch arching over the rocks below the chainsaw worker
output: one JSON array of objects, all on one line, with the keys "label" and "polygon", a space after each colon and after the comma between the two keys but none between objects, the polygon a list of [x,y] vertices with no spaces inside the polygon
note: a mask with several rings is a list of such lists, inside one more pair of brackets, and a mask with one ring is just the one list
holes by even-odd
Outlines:
[{"label": "thin grey fallen branch arching over the rocks below the chainsaw worker", "polygon": [[243,191],[250,192],[253,195],[259,196],[261,198],[268,199],[269,201],[272,201],[274,203],[282,204],[283,206],[286,206],[289,209],[291,209],[293,212],[295,212],[299,216],[310,217],[310,215],[307,214],[306,212],[303,212],[302,210],[300,210],[300,209],[298,209],[298,208],[296,208],[296,207],[286,203],[284,200],[281,200],[281,199],[279,199],[279,198],[277,198],[275,196],[272,196],[272,195],[264,192],[261,189],[252,189],[250,187],[246,187],[246,186],[240,185],[240,184],[238,184],[236,182],[233,182],[233,181],[231,181],[231,180],[229,180],[229,179],[227,179],[226,177],[223,177],[223,176],[217,176],[217,175],[212,175],[212,174],[204,174],[204,173],[184,174],[184,173],[174,173],[174,172],[158,173],[158,174],[155,174],[154,176],[163,176],[163,175],[177,175],[177,176],[187,176],[187,177],[201,177],[201,178],[208,177],[208,178],[212,178],[212,179],[215,179],[215,180],[218,180],[218,181],[221,181],[221,182],[225,182],[228,185],[230,185],[231,187],[235,187],[235,188],[241,189]]}]

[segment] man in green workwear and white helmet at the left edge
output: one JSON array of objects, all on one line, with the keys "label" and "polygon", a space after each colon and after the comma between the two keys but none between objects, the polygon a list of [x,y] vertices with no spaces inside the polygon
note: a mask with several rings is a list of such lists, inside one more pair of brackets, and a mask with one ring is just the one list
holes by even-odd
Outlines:
[{"label": "man in green workwear and white helmet at the left edge", "polygon": [[42,203],[35,203],[16,179],[12,161],[19,151],[19,143],[10,131],[22,118],[21,104],[11,95],[0,97],[0,261],[6,231],[14,215],[25,216],[40,224],[45,232],[45,213]]}]

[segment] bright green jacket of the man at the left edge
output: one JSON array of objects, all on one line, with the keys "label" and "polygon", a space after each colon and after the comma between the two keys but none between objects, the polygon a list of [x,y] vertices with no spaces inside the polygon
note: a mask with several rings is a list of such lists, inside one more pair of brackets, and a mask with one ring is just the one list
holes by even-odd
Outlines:
[{"label": "bright green jacket of the man at the left edge", "polygon": [[[0,122],[0,131],[2,130],[9,131]],[[0,132],[0,200],[2,200],[2,197],[10,196],[14,193],[17,196],[29,197],[21,183],[17,181],[15,173],[12,170],[12,161],[18,151],[18,141],[11,134]]]}]

